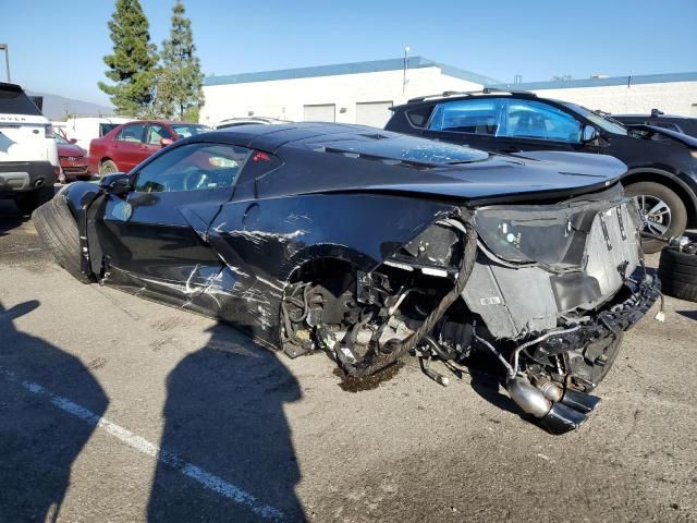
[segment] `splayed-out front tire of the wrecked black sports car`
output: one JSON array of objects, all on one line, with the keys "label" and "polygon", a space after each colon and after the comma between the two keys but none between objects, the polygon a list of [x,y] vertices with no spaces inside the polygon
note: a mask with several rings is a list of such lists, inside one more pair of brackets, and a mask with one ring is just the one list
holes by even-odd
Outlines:
[{"label": "splayed-out front tire of the wrecked black sports car", "polygon": [[51,247],[58,265],[77,281],[91,283],[93,279],[80,270],[80,232],[65,200],[57,197],[41,205],[32,215],[32,221],[36,232]]}]

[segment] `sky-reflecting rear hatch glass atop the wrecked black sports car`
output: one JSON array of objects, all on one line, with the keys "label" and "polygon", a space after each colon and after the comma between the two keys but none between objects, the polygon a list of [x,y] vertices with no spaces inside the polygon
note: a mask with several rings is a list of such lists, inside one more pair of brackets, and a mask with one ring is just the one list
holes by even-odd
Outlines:
[{"label": "sky-reflecting rear hatch glass atop the wrecked black sports car", "polygon": [[328,153],[342,153],[357,158],[393,160],[429,166],[470,163],[489,158],[482,150],[407,136],[376,135],[371,139],[342,139],[323,144]]}]

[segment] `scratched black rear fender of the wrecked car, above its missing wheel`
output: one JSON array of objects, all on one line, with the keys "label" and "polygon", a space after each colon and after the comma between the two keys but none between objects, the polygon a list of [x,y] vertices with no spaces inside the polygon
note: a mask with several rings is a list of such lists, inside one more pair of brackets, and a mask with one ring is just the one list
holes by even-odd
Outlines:
[{"label": "scratched black rear fender of the wrecked car, above its missing wheel", "polygon": [[[285,281],[316,257],[345,259],[365,271],[457,207],[380,194],[320,194],[230,203],[209,229],[233,265]],[[218,236],[216,241],[215,238]],[[220,253],[224,257],[224,253]]]}]

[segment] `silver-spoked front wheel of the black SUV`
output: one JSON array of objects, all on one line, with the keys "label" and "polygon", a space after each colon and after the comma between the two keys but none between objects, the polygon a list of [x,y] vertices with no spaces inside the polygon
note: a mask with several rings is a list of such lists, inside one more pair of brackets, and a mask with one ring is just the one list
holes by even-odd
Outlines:
[{"label": "silver-spoked front wheel of the black SUV", "polygon": [[[665,185],[638,182],[627,185],[625,194],[634,198],[641,217],[641,230],[669,240],[681,235],[687,227],[687,209],[681,197]],[[665,242],[644,239],[641,246],[648,254],[658,253]]]}]

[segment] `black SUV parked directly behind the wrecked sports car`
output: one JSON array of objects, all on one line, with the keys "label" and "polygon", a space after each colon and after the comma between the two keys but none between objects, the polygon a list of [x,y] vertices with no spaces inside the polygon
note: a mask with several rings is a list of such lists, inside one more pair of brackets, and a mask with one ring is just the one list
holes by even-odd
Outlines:
[{"label": "black SUV parked directly behind the wrecked sports car", "polygon": [[[671,238],[697,223],[697,139],[658,127],[627,129],[613,119],[533,93],[485,89],[413,98],[392,108],[389,131],[505,155],[565,150],[611,155],[628,170],[644,227]],[[664,243],[645,240],[646,252]]]}]

